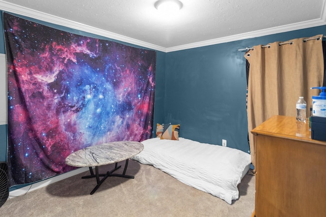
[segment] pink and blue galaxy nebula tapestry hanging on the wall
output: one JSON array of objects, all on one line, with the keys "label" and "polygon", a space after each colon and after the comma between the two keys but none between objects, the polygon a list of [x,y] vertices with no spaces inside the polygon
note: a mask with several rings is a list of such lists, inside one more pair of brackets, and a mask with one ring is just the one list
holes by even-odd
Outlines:
[{"label": "pink and blue galaxy nebula tapestry hanging on the wall", "polygon": [[4,13],[10,186],[76,169],[73,151],[152,136],[156,52]]}]

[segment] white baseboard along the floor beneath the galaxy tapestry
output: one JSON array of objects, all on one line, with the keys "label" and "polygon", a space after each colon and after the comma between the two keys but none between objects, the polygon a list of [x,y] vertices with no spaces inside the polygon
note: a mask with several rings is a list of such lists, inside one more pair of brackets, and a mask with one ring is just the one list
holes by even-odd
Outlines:
[{"label": "white baseboard along the floor beneath the galaxy tapestry", "polygon": [[72,170],[70,172],[66,172],[66,173],[61,174],[61,175],[53,176],[53,177],[45,179],[43,181],[39,181],[39,182],[30,184],[30,185],[27,185],[27,186],[25,186],[23,188],[10,191],[9,192],[9,199],[14,198],[14,197],[18,197],[18,196],[21,196],[21,195],[25,195],[28,192],[34,191],[34,190],[39,189],[39,188],[43,188],[43,187],[45,187],[45,186],[47,186],[49,184],[55,183],[57,181],[61,181],[61,180],[65,179],[65,178],[69,178],[71,176],[77,175],[79,173],[86,172],[88,170],[89,170],[88,167],[79,168],[79,169],[76,169],[76,170]]}]

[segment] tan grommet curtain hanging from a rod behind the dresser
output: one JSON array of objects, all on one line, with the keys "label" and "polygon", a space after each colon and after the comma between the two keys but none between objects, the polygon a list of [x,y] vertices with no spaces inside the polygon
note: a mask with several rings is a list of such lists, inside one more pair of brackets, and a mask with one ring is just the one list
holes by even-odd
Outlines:
[{"label": "tan grommet curtain hanging from a rod behind the dresser", "polygon": [[273,115],[295,116],[295,104],[300,96],[304,97],[309,110],[311,97],[319,95],[318,90],[310,87],[322,86],[322,35],[287,42],[254,46],[244,55],[250,63],[248,129],[253,165],[255,144],[251,130]]}]

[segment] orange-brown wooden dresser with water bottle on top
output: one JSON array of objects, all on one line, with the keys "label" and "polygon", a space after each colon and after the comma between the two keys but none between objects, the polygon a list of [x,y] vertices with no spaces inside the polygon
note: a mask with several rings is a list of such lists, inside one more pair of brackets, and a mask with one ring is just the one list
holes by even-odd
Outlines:
[{"label": "orange-brown wooden dresser with water bottle on top", "polygon": [[311,139],[308,122],[288,116],[273,116],[251,132],[255,216],[326,216],[326,142]]}]

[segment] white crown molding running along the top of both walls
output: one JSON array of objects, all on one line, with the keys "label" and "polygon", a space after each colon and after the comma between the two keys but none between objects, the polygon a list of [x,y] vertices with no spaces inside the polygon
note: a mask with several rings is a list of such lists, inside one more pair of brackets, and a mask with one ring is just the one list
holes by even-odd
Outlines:
[{"label": "white crown molding running along the top of both walls", "polygon": [[142,46],[142,47],[146,47],[149,49],[162,51],[162,52],[173,52],[173,51],[178,51],[178,50],[185,50],[185,49],[209,46],[209,45],[214,45],[214,44],[221,44],[221,43],[226,43],[226,42],[250,39],[250,38],[261,37],[261,36],[266,36],[266,35],[271,35],[271,34],[289,32],[292,30],[298,30],[298,29],[303,29],[303,28],[325,25],[326,24],[325,6],[326,5],[324,2],[320,19],[314,19],[314,20],[309,20],[309,21],[305,21],[305,22],[298,22],[298,23],[293,23],[293,24],[289,24],[289,25],[283,25],[283,26],[278,26],[278,27],[273,27],[273,28],[266,28],[266,29],[248,32],[248,33],[244,33],[244,34],[238,34],[238,35],[233,35],[233,36],[211,39],[211,40],[207,40],[207,41],[201,41],[201,42],[196,42],[196,43],[190,43],[190,44],[165,48],[165,47],[157,46],[157,45],[147,43],[144,41],[140,41],[137,39],[132,39],[132,38],[129,38],[126,36],[108,32],[108,31],[105,31],[100,28],[95,28],[95,27],[92,27],[89,25],[85,25],[85,24],[78,23],[75,21],[67,20],[67,19],[64,19],[61,17],[53,16],[53,15],[39,12],[39,11],[36,11],[33,9],[17,6],[15,4],[4,2],[4,1],[0,0],[0,10],[6,11],[6,12],[20,14],[20,15],[23,15],[26,17],[31,17],[31,18],[42,20],[45,22],[58,24],[58,25],[74,28],[77,30],[82,30],[84,32],[107,37],[109,39],[114,39],[114,40],[130,43],[133,45],[138,45],[138,46]]}]

